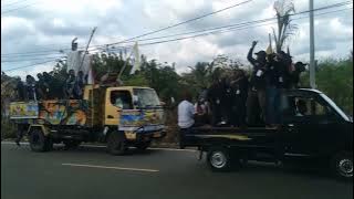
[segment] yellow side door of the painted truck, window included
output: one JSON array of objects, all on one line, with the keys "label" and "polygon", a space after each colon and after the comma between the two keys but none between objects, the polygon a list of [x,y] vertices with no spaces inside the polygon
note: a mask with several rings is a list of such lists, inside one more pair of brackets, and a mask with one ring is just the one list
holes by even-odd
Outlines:
[{"label": "yellow side door of the painted truck, window included", "polygon": [[119,111],[133,109],[133,100],[129,91],[107,90],[105,107],[105,125],[119,124]]}]

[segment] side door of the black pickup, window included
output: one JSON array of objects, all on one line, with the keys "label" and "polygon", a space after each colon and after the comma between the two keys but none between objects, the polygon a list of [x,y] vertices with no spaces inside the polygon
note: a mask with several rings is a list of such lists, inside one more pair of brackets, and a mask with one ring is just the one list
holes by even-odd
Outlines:
[{"label": "side door of the black pickup, window included", "polygon": [[332,109],[316,96],[288,96],[284,116],[285,155],[319,156],[326,154],[335,138],[337,121]]}]

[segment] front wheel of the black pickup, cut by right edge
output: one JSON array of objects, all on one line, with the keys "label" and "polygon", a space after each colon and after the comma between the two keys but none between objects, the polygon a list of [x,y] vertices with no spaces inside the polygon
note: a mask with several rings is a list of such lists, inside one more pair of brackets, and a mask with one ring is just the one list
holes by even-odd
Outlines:
[{"label": "front wheel of the black pickup, cut by right edge", "polygon": [[332,159],[332,169],[336,177],[341,179],[353,179],[353,154],[340,153]]}]

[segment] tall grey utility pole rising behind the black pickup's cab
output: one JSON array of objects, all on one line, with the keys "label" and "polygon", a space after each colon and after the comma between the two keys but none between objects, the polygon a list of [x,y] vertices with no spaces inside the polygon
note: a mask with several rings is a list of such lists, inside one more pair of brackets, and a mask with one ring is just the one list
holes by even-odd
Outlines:
[{"label": "tall grey utility pole rising behind the black pickup's cab", "polygon": [[310,1],[310,86],[316,88],[314,62],[313,0]]}]

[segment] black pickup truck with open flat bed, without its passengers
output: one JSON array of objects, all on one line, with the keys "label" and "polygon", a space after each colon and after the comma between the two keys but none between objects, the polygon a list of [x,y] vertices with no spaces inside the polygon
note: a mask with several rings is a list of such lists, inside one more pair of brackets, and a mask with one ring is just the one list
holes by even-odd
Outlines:
[{"label": "black pickup truck with open flat bed, without its passengers", "polygon": [[[305,104],[299,113],[298,102]],[[212,170],[226,171],[247,160],[317,163],[345,179],[353,178],[353,119],[316,90],[287,91],[281,96],[281,124],[266,127],[196,127],[185,147],[207,151]]]}]

